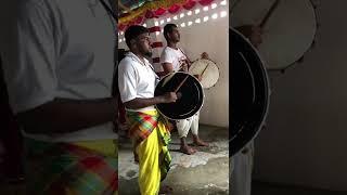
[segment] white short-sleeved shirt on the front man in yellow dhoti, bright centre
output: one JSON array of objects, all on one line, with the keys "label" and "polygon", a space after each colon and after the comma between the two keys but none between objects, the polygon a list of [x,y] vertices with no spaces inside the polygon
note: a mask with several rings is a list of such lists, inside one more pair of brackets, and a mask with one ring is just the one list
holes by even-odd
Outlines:
[{"label": "white short-sleeved shirt on the front man in yellow dhoti, bright centre", "polygon": [[[154,98],[154,90],[158,82],[158,76],[146,58],[141,61],[132,52],[126,54],[118,66],[118,87],[121,102],[129,102],[133,99]],[[153,110],[154,106],[128,110]]]}]

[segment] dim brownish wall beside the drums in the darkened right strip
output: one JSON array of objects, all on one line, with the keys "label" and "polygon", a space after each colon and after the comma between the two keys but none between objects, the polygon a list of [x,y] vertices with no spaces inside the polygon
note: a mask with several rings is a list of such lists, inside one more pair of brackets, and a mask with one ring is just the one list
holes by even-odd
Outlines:
[{"label": "dim brownish wall beside the drums in the darkened right strip", "polygon": [[268,128],[255,178],[347,191],[347,1],[321,1],[317,44],[303,64],[270,73]]}]

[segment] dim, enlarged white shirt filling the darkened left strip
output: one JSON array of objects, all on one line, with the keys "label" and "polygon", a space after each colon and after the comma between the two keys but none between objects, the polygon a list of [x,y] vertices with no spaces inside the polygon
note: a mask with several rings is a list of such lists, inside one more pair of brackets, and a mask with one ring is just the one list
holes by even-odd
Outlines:
[{"label": "dim, enlarged white shirt filling the darkened left strip", "polygon": [[[100,1],[20,2],[18,13],[7,11],[5,18],[16,23],[1,32],[0,41],[13,112],[35,108],[54,98],[110,98],[116,25]],[[52,142],[116,138],[111,122],[72,133],[25,135]]]}]

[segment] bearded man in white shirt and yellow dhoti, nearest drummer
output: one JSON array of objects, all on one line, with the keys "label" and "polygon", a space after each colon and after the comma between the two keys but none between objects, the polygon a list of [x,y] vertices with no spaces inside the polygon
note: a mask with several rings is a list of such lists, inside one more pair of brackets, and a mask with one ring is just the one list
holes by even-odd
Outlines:
[{"label": "bearded man in white shirt and yellow dhoti, nearest drummer", "polygon": [[143,195],[168,193],[170,187],[159,184],[169,170],[171,161],[167,145],[170,132],[167,120],[159,115],[155,104],[172,103],[175,92],[154,96],[158,76],[145,58],[152,54],[149,29],[130,26],[125,32],[130,52],[118,66],[118,86],[129,121],[129,135],[139,160],[139,185]]}]

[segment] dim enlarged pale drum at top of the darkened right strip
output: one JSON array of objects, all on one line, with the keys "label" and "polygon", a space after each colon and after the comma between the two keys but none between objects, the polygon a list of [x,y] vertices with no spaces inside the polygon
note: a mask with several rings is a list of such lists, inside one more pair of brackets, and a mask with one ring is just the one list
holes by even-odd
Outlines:
[{"label": "dim enlarged pale drum at top of the darkened right strip", "polygon": [[[262,43],[258,51],[268,69],[284,69],[303,57],[314,41],[316,11],[310,0],[241,0],[230,10],[233,27],[262,26]],[[270,11],[270,12],[269,12]]]}]

